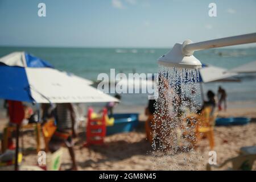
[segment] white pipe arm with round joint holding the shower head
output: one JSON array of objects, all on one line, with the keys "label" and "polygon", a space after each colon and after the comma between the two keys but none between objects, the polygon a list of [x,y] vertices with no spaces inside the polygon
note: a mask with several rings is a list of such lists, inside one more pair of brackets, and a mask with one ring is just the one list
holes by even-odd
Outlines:
[{"label": "white pipe arm with round joint holding the shower head", "polygon": [[207,40],[204,42],[193,43],[191,40],[185,40],[182,45],[182,53],[184,56],[193,55],[194,51],[210,49],[216,47],[234,46],[239,44],[248,44],[256,42],[256,33],[238,36],[230,36],[228,38]]}]

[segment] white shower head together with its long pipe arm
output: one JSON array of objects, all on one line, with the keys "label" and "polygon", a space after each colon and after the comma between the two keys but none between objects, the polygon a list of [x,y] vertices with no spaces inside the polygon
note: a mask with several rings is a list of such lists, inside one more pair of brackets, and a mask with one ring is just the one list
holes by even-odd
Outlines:
[{"label": "white shower head together with its long pipe arm", "polygon": [[193,56],[194,51],[255,42],[256,33],[230,36],[228,38],[207,40],[198,43],[192,43],[191,40],[185,40],[183,44],[176,43],[170,52],[160,57],[158,59],[158,64],[163,65],[164,67],[199,69],[202,67],[202,64]]}]

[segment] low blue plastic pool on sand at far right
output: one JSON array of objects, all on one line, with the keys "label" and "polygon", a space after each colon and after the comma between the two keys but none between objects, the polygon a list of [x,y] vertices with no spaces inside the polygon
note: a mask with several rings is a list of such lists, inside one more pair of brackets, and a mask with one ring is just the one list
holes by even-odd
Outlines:
[{"label": "low blue plastic pool on sand at far right", "polygon": [[217,118],[216,126],[230,126],[230,125],[246,125],[251,121],[250,118],[236,117],[236,118]]}]

